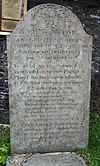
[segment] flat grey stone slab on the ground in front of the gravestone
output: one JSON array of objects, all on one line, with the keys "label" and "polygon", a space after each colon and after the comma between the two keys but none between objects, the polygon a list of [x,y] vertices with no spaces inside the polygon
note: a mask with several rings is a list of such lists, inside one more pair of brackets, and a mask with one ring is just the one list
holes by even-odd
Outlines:
[{"label": "flat grey stone slab on the ground in front of the gravestone", "polygon": [[6,166],[87,166],[76,153],[22,154],[8,157]]}]

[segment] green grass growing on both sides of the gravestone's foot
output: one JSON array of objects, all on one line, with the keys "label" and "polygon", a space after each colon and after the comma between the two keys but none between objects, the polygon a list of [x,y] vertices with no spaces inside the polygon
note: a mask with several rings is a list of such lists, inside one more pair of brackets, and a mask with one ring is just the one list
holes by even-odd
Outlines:
[{"label": "green grass growing on both sides of the gravestone's foot", "polygon": [[[90,131],[88,149],[78,149],[88,166],[100,166],[100,110],[90,113]],[[0,166],[4,166],[7,156],[10,155],[10,131],[9,127],[0,126]]]}]

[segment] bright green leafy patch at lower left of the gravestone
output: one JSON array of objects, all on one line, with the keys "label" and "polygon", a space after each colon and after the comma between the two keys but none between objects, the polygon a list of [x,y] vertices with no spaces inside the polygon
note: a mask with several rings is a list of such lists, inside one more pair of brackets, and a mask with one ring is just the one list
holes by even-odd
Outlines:
[{"label": "bright green leafy patch at lower left of the gravestone", "polygon": [[6,163],[10,154],[10,131],[9,127],[0,126],[0,164]]}]

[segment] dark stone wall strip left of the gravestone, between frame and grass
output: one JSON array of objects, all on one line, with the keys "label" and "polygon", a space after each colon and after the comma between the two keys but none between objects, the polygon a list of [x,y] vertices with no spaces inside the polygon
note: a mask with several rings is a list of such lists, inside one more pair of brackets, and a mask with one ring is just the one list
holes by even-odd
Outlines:
[{"label": "dark stone wall strip left of the gravestone, between frame and grass", "polygon": [[8,72],[6,37],[0,36],[0,123],[8,122]]}]

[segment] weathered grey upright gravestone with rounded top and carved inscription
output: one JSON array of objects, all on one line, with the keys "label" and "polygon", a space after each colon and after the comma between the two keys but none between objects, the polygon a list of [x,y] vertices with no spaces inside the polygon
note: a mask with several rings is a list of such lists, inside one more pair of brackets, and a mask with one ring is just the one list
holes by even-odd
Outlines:
[{"label": "weathered grey upright gravestone with rounded top and carved inscription", "polygon": [[36,6],[7,46],[12,153],[87,147],[92,37],[76,15]]}]

